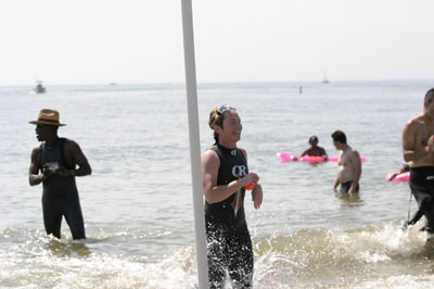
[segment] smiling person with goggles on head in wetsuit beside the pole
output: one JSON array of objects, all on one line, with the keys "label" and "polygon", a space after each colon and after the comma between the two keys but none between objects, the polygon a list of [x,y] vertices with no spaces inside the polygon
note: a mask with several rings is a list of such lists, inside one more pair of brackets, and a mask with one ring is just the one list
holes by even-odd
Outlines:
[{"label": "smiling person with goggles on head in wetsuit beside the pole", "polygon": [[252,288],[253,249],[244,215],[246,187],[254,185],[255,209],[263,203],[259,177],[248,172],[247,153],[238,148],[241,120],[228,105],[209,113],[214,146],[202,154],[203,192],[208,249],[209,288],[222,288],[226,271],[235,288]]}]

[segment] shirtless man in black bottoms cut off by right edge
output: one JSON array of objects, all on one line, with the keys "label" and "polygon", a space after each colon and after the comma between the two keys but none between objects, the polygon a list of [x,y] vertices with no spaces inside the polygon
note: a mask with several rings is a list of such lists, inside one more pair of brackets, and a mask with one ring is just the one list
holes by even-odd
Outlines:
[{"label": "shirtless man in black bottoms cut off by right edge", "polygon": [[410,165],[410,189],[419,210],[405,227],[414,225],[423,215],[422,230],[434,233],[434,88],[424,98],[423,112],[410,118],[403,130],[404,160]]}]

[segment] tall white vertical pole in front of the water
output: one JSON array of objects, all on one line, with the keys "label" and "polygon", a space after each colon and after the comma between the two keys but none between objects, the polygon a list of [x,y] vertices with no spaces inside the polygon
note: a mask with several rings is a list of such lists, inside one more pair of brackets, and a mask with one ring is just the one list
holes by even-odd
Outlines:
[{"label": "tall white vertical pole in front of the water", "polygon": [[205,216],[203,208],[201,142],[199,135],[197,86],[194,61],[192,0],[182,0],[183,54],[186,61],[187,109],[189,115],[191,179],[193,186],[194,229],[196,233],[199,288],[208,288]]}]

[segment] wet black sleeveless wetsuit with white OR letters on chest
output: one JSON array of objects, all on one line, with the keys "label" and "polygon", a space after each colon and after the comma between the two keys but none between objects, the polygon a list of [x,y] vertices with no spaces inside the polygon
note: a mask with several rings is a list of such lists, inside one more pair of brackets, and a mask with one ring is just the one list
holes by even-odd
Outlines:
[{"label": "wet black sleeveless wetsuit with white OR letters on chest", "polygon": [[[220,160],[217,186],[248,174],[247,162],[241,150],[220,144],[210,150]],[[253,250],[244,215],[244,194],[245,188],[242,188],[221,202],[205,202],[209,288],[222,288],[226,269],[235,284],[242,288],[252,287]]]}]

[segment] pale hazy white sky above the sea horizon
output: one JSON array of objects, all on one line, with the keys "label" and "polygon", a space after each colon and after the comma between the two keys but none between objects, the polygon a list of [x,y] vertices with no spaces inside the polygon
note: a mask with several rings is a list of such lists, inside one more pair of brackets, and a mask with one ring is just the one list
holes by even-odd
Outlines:
[{"label": "pale hazy white sky above the sea horizon", "polygon": [[[192,0],[199,83],[434,79],[432,0]],[[1,0],[0,86],[184,83],[181,0]]]}]

